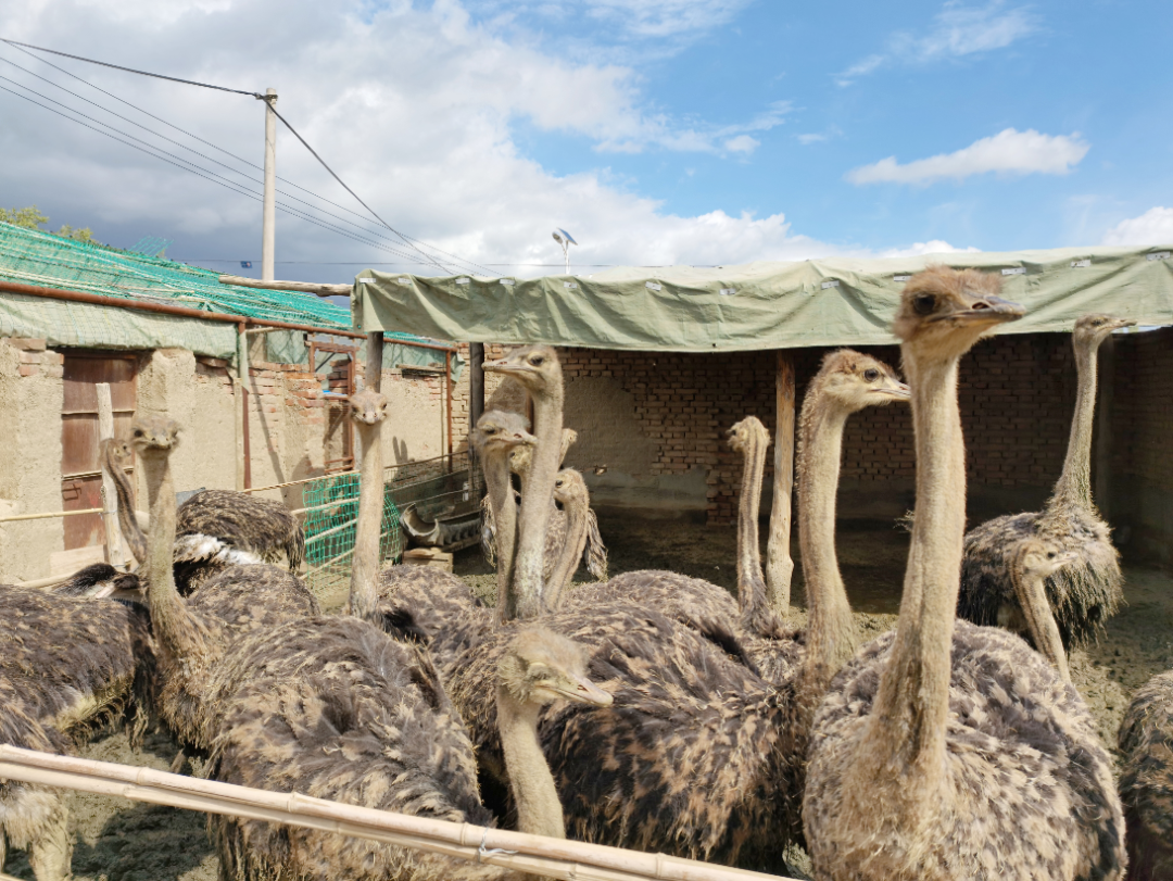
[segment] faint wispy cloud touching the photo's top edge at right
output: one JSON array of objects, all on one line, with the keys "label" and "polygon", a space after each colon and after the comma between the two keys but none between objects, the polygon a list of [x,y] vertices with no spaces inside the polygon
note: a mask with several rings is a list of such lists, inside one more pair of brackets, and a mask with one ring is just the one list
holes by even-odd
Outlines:
[{"label": "faint wispy cloud touching the photo's top edge at right", "polygon": [[1026,7],[1006,9],[1004,6],[1004,0],[992,0],[979,7],[951,0],[934,16],[927,33],[893,34],[884,52],[868,55],[836,74],[835,82],[849,86],[889,65],[923,65],[1003,49],[1039,29],[1037,16]]}]

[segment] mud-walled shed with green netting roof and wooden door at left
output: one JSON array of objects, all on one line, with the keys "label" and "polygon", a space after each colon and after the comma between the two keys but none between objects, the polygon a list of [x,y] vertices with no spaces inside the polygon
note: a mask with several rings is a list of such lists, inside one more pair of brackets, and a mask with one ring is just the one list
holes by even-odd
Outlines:
[{"label": "mud-walled shed with green netting roof and wooden door at left", "polygon": [[[136,409],[183,426],[179,490],[270,487],[352,467],[343,401],[365,345],[328,300],[0,223],[0,583],[100,558],[101,515],[60,516],[102,507],[96,384],[110,385],[116,432]],[[388,334],[385,348],[401,414],[386,461],[446,456],[450,469],[455,347]],[[305,487],[265,494],[300,509]],[[42,514],[57,516],[12,520]]]}]

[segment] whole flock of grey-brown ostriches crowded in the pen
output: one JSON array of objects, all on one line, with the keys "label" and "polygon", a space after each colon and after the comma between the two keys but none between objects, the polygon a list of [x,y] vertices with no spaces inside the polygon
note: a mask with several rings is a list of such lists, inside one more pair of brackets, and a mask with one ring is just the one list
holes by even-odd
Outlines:
[{"label": "whole flock of grey-brown ostriches crowded in the pen", "polygon": [[[293,574],[304,542],[279,506],[209,490],[176,510],[181,427],[140,415],[103,452],[141,563],[120,578],[145,602],[102,596],[93,572],[0,589],[0,740],[69,752],[116,720],[134,738],[154,716],[222,781],[774,873],[800,845],[818,879],[1173,877],[1173,671],[1128,710],[1118,787],[1066,664],[1121,597],[1089,455],[1097,350],[1130,323],[1076,325],[1079,392],[1045,509],[967,535],[958,364],[1023,316],[998,292],[972,270],[913,277],[893,325],[907,386],[857,352],[823,360],[799,426],[801,630],[761,576],[769,439],[754,418],[731,429],[745,459],[735,599],[669,571],[568,589],[592,515],[581,475],[560,470],[562,374],[545,346],[484,365],[533,402],[533,433],[490,401],[473,438],[495,608],[436,569],[380,570],[378,392],[351,399],[361,493],[340,615]],[[842,436],[853,413],[894,401],[911,405],[916,510],[896,630],[861,646],[835,557]],[[149,490],[145,536],[127,443]],[[278,824],[213,816],[209,829],[225,881],[511,876]],[[62,793],[0,781],[0,865],[7,846],[29,850],[40,881],[67,877]]]}]

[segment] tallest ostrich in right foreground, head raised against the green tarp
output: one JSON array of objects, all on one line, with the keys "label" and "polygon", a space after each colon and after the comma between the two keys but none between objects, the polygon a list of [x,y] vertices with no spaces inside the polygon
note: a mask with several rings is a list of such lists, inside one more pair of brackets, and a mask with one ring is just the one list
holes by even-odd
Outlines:
[{"label": "tallest ostrich in right foreground, head raised against the green tarp", "polygon": [[1018,637],[955,623],[965,524],[961,357],[1023,309],[999,279],[931,267],[894,331],[913,391],[916,517],[895,635],[823,698],[802,806],[825,879],[1118,879],[1111,761],[1073,689]]}]

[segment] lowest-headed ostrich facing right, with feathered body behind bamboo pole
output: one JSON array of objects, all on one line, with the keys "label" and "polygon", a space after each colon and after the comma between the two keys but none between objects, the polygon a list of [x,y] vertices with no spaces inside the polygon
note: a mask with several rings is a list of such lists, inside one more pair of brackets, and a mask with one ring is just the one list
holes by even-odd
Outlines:
[{"label": "lowest-headed ostrich facing right, with feathered body behind bamboo pole", "polygon": [[[290,623],[240,659],[251,673],[230,702],[212,754],[226,782],[453,822],[493,826],[465,726],[419,645],[354,618]],[[555,700],[606,706],[586,655],[544,630],[510,641],[494,699],[521,832],[565,838],[537,741]],[[514,873],[318,829],[215,816],[222,876],[233,879],[513,879]]]}]

